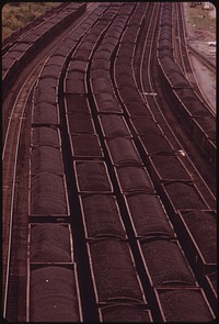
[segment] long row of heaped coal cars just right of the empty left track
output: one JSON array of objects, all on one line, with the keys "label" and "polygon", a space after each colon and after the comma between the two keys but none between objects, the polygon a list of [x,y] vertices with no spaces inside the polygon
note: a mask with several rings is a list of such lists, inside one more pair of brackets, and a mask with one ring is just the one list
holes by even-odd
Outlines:
[{"label": "long row of heaped coal cars just right of the empty left track", "polygon": [[[70,3],[65,15],[77,19],[84,3]],[[72,12],[74,14],[72,15]],[[78,13],[77,13],[78,12]],[[58,19],[58,18],[57,18]],[[56,26],[54,22],[54,27]],[[43,27],[43,26],[42,26]],[[82,311],[70,226],[58,105],[66,59],[87,26],[78,27],[42,68],[33,91],[30,147],[27,322],[80,322]]]}]

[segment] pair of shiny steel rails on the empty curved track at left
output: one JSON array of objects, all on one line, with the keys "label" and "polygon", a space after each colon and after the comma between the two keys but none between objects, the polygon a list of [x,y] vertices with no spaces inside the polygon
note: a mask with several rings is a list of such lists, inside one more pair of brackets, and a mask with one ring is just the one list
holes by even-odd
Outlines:
[{"label": "pair of shiny steel rails on the empty curved track at left", "polygon": [[[50,54],[50,53],[49,53]],[[3,145],[2,153],[2,164],[3,164],[3,215],[5,217],[8,204],[10,204],[10,215],[9,215],[9,241],[8,241],[8,258],[7,258],[7,273],[5,276],[5,288],[4,288],[4,305],[3,305],[3,316],[7,315],[7,301],[8,301],[8,286],[10,277],[10,258],[11,258],[11,245],[12,245],[12,227],[13,227],[13,204],[14,204],[14,193],[15,193],[15,178],[16,178],[16,167],[18,167],[18,155],[19,155],[19,144],[21,137],[21,129],[24,119],[24,112],[27,104],[30,93],[37,80],[38,74],[43,67],[45,60],[44,58],[36,68],[32,71],[30,77],[23,83],[16,100],[14,102],[11,116],[9,118],[9,124],[7,129],[7,135]],[[9,164],[10,161],[10,164]],[[7,175],[7,177],[5,177]],[[5,200],[4,197],[8,197]],[[4,226],[5,227],[5,226]],[[7,234],[5,234],[7,235]],[[4,247],[5,248],[5,247]]]}]

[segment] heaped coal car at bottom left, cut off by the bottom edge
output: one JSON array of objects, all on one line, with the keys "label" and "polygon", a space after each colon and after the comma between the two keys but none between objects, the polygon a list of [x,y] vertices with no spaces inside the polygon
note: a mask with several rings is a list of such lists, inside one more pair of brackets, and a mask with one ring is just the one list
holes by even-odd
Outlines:
[{"label": "heaped coal car at bottom left, cut off by the bottom edge", "polygon": [[76,264],[31,266],[30,322],[82,322]]}]

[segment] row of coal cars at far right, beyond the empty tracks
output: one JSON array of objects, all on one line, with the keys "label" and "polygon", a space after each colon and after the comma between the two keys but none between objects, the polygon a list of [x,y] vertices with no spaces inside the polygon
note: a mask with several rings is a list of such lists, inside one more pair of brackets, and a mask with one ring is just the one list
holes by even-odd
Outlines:
[{"label": "row of coal cars at far right, beyond the empty tracks", "polygon": [[[173,25],[172,15],[170,13],[165,13],[165,15],[169,16],[171,24]],[[164,16],[165,16],[164,15]],[[178,14],[178,30],[182,31],[184,34],[184,23],[181,24],[182,21],[181,14]],[[166,22],[168,23],[168,22]],[[173,57],[173,40],[175,40],[175,36],[173,36],[173,31],[168,23],[168,32],[162,32],[161,37],[159,40],[159,44],[161,46],[161,51],[159,49],[159,65],[162,70],[161,76],[164,76],[164,83],[165,80],[168,80],[168,88],[171,88],[172,91],[170,92],[170,98],[174,102],[174,107],[176,107],[177,113],[183,116],[184,124],[187,127],[188,132],[193,133],[193,138],[197,143],[197,145],[200,147],[203,153],[207,153],[207,156],[209,160],[215,165],[215,154],[216,154],[216,123],[215,123],[215,115],[211,110],[208,110],[206,103],[200,100],[200,96],[198,94],[198,89],[195,86],[195,83],[192,83],[189,81],[189,56],[185,48],[185,46],[181,46],[178,51],[178,57],[183,58],[181,62],[183,62],[184,69],[188,69],[187,72],[184,74],[182,69],[178,67],[178,64],[175,62],[175,57]],[[173,29],[174,30],[174,29]],[[171,42],[166,40],[166,35],[164,33],[170,34]],[[175,34],[174,34],[175,35]],[[181,38],[182,40],[182,38]],[[180,42],[182,43],[182,42]],[[174,46],[177,48],[177,46]],[[163,49],[165,48],[165,52]],[[169,53],[169,57],[166,57],[166,53]],[[171,66],[172,65],[172,66]],[[173,77],[172,72],[175,75],[175,78]],[[195,82],[195,80],[194,80]],[[194,85],[194,86],[193,86]],[[169,89],[166,89],[169,91]],[[182,109],[181,109],[182,108]],[[186,114],[189,114],[189,118],[186,120]],[[194,122],[193,129],[191,127]],[[208,124],[208,125],[207,125]],[[198,133],[201,132],[203,135],[206,137],[206,141],[209,144],[209,147],[207,142],[207,146],[204,148],[204,142],[200,144],[197,136]],[[208,139],[207,139],[208,137]],[[204,146],[203,146],[204,145]]]}]

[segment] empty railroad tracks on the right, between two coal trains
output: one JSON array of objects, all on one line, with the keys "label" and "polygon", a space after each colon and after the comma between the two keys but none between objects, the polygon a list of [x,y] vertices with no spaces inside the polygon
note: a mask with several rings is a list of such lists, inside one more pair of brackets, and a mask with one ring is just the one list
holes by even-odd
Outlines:
[{"label": "empty railroad tracks on the right, between two coal trains", "polygon": [[[199,178],[200,182],[198,183],[199,188],[206,188],[204,189],[204,197],[209,197],[209,204],[215,208],[216,202],[216,193],[214,187],[208,182],[207,178],[203,178],[201,176],[201,168],[198,167],[198,169],[195,167],[193,160],[195,160],[195,157],[193,160],[189,158],[192,155],[192,152],[187,152],[187,145],[184,144],[184,139],[182,138],[182,135],[177,134],[177,130],[173,129],[173,124],[177,124],[177,120],[173,122],[173,120],[169,120],[170,116],[170,110],[166,112],[164,111],[162,101],[162,89],[160,89],[159,80],[154,80],[153,75],[158,75],[158,70],[153,68],[155,66],[155,51],[153,44],[158,42],[158,38],[155,37],[152,42],[154,35],[155,35],[155,26],[158,27],[159,21],[158,21],[158,14],[155,15],[155,11],[158,12],[159,9],[154,9],[154,12],[151,14],[154,14],[153,21],[157,21],[157,25],[150,24],[147,26],[148,33],[151,30],[151,35],[149,34],[149,38],[146,38],[146,42],[143,44],[142,55],[141,55],[141,63],[139,71],[137,72],[137,79],[140,76],[140,83],[139,88],[141,89],[141,93],[145,98],[145,101],[147,105],[149,107],[150,111],[153,112],[153,116],[158,119],[159,125],[163,129],[164,134],[166,134],[169,141],[172,143],[175,152],[177,153],[178,157],[182,159],[183,163],[185,163],[188,168],[191,169],[191,174],[194,175],[195,178]],[[150,49],[147,47],[150,44]],[[147,70],[147,74],[145,72]],[[160,92],[161,91],[161,92]],[[185,138],[185,134],[183,134],[183,138]],[[187,161],[186,161],[187,160]],[[207,166],[205,166],[206,168]],[[196,175],[196,176],[195,176]],[[205,180],[206,179],[206,180]],[[207,185],[209,183],[209,185]]]}]

